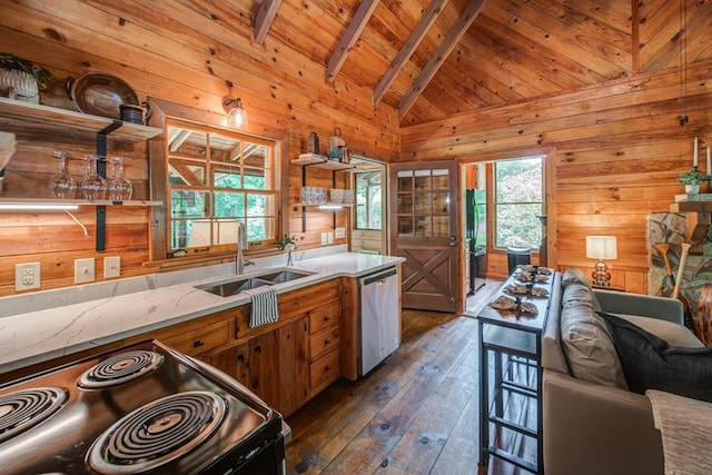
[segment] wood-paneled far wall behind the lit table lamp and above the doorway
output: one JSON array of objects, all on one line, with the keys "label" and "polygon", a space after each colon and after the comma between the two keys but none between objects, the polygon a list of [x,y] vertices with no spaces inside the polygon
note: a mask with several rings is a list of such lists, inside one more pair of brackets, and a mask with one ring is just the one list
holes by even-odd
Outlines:
[{"label": "wood-paneled far wall behind the lit table lamp and above the doorway", "polygon": [[[684,194],[676,175],[692,166],[694,137],[703,148],[712,144],[711,73],[711,61],[688,67],[684,127],[681,72],[670,68],[405,127],[400,160],[474,162],[545,152],[550,265],[591,268],[585,236],[613,235],[613,285],[644,293],[646,216],[668,211]],[[502,276],[506,258],[493,255],[488,267]]]}]

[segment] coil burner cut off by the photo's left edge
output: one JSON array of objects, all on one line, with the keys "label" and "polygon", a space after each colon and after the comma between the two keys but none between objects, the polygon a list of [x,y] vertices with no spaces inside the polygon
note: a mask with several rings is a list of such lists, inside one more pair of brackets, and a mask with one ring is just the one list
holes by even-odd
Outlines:
[{"label": "coil burner cut off by the photo's left edge", "polygon": [[67,392],[38,387],[0,396],[0,443],[12,438],[58,412]]}]

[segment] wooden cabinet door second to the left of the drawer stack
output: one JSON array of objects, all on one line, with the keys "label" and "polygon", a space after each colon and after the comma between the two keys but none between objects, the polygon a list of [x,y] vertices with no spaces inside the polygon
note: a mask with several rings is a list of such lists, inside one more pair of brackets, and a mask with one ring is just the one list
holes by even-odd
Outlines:
[{"label": "wooden cabinet door second to the left of the drawer stack", "polygon": [[249,340],[249,389],[268,406],[279,405],[279,330]]}]

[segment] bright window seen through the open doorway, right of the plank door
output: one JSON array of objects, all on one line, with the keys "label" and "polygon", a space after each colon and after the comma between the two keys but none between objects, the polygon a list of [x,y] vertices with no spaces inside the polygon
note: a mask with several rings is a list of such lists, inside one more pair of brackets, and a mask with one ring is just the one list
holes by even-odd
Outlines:
[{"label": "bright window seen through the open doorway, right of the plank door", "polygon": [[544,157],[494,164],[495,246],[538,248],[544,209]]}]

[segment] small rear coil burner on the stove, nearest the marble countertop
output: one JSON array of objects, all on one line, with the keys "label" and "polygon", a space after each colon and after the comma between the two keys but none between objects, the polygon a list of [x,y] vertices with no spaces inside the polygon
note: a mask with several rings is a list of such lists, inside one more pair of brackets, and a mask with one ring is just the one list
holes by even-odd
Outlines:
[{"label": "small rear coil burner on the stove, nearest the marble countertop", "polygon": [[156,369],[164,356],[155,352],[136,350],[112,356],[85,372],[77,383],[86,389],[98,389],[134,380]]}]

